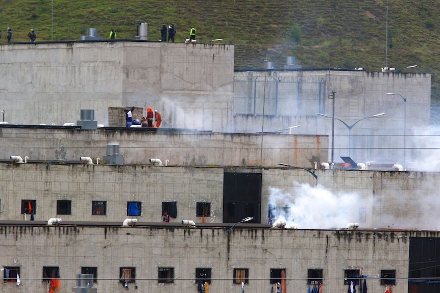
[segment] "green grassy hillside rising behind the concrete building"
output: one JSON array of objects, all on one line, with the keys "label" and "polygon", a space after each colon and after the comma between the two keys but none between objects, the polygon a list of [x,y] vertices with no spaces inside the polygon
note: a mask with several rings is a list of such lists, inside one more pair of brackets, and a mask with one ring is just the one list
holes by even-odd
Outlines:
[{"label": "green grassy hillside rising behind the concrete building", "polygon": [[[53,35],[52,35],[53,3]],[[175,23],[177,42],[194,25],[199,41],[223,38],[235,44],[235,68],[282,68],[286,56],[303,67],[385,66],[386,0],[0,0],[1,44],[6,29],[13,41],[79,40],[87,28],[108,38],[133,39],[138,20],[148,22],[150,40],[160,39],[163,23]],[[432,73],[432,101],[440,103],[440,1],[388,0],[387,65],[406,72]],[[4,62],[4,61],[2,61]]]}]

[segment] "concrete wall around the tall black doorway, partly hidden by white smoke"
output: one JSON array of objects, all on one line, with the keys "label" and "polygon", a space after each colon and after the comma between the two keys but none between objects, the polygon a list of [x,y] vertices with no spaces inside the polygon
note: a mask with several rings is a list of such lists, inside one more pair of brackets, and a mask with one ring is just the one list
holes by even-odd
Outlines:
[{"label": "concrete wall around the tall black doorway, partly hidden by white smoke", "polygon": [[[262,174],[261,223],[266,223],[268,203],[274,204],[273,189],[283,195],[277,200],[277,206],[293,206],[301,204],[296,200],[303,198],[305,185],[307,197],[315,201],[340,202],[336,207],[332,204],[327,208],[344,206],[343,201],[347,200],[344,195],[354,198],[348,198],[351,205],[340,211],[344,212],[346,222],[336,227],[358,222],[362,228],[435,230],[440,225],[432,217],[438,209],[439,173],[313,170],[315,179],[306,170],[287,167],[47,166],[31,163],[0,164],[0,220],[23,220],[21,200],[36,200],[36,220],[58,218],[56,201],[71,200],[71,215],[61,216],[65,221],[123,222],[127,218],[127,202],[140,201],[142,215],[136,218],[140,222],[160,222],[162,201],[177,201],[177,218],[172,219],[175,223],[182,220],[202,222],[202,218],[195,217],[197,202],[211,202],[212,217],[206,219],[207,223],[222,223],[225,172]],[[107,201],[107,215],[93,216],[92,201]],[[316,206],[322,208],[321,203]],[[313,209],[313,206],[307,208]],[[315,219],[320,220],[320,224],[303,222],[299,228],[329,228],[319,215],[332,217],[329,216],[331,212],[325,209],[316,212]],[[300,223],[302,216],[291,217]]]}]

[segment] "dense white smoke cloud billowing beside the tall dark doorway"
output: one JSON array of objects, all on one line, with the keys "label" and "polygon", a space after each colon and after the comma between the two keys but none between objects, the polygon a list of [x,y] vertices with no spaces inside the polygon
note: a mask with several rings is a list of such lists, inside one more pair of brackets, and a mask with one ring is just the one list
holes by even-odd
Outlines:
[{"label": "dense white smoke cloud billowing beside the tall dark doorway", "polygon": [[270,188],[269,204],[276,207],[275,222],[286,223],[299,229],[345,228],[348,223],[358,222],[361,197],[356,193],[333,194],[322,185],[295,182],[295,195]]}]

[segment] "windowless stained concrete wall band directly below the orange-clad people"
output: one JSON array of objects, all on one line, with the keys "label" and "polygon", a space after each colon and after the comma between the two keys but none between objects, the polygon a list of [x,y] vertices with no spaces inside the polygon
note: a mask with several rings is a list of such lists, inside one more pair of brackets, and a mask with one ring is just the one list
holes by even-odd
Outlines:
[{"label": "windowless stained concrete wall band directly below the orange-clad people", "polygon": [[[327,159],[328,137],[212,132],[38,129],[0,126],[0,158],[79,161],[107,155],[107,144],[119,143],[125,164],[149,165],[159,158],[172,166],[276,166],[285,163],[312,168]],[[148,129],[146,129],[148,130]],[[243,162],[244,159],[244,162]]]}]

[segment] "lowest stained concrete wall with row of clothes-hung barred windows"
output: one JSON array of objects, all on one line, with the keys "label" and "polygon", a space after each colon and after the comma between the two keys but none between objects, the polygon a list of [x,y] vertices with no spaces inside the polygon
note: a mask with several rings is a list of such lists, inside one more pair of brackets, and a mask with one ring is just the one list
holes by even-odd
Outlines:
[{"label": "lowest stained concrete wall with row of clothes-hung barred windows", "polygon": [[[270,292],[271,269],[286,270],[287,292],[307,291],[307,270],[322,269],[323,291],[345,292],[344,269],[368,275],[369,292],[382,292],[380,270],[396,270],[393,291],[408,291],[409,237],[438,232],[269,230],[234,228],[0,226],[0,260],[20,267],[21,285],[3,292],[43,292],[42,267],[59,267],[62,293],[76,286],[81,267],[97,268],[97,292],[125,292],[119,268],[136,269],[136,292],[195,292],[195,268],[211,268],[210,292],[240,291],[234,268],[249,270],[245,292]],[[174,283],[158,282],[158,268],[174,268]],[[136,289],[135,289],[135,286]]]}]

